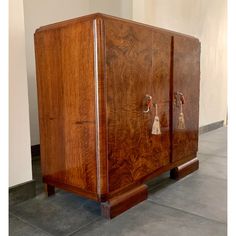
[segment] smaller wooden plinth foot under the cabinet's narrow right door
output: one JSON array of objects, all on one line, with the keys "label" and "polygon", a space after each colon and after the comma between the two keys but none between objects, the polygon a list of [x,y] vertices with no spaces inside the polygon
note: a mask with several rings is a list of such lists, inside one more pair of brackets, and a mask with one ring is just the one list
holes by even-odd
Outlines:
[{"label": "smaller wooden plinth foot under the cabinet's narrow right door", "polygon": [[175,167],[170,171],[170,177],[172,179],[179,180],[186,175],[189,175],[190,173],[194,172],[199,168],[199,161],[197,158],[194,158],[186,163],[184,163],[181,166]]}]

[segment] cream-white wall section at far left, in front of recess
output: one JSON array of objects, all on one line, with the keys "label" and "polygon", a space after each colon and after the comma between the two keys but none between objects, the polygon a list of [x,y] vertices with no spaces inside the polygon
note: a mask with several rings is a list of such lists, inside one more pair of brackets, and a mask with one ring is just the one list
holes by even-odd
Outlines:
[{"label": "cream-white wall section at far left, in front of recess", "polygon": [[9,185],[32,180],[23,0],[9,2]]}]

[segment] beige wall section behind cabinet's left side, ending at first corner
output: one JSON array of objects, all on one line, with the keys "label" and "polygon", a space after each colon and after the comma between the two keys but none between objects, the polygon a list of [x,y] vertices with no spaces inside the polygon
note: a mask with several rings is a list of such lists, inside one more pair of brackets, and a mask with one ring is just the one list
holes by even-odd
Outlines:
[{"label": "beige wall section behind cabinet's left side, ending at first corner", "polygon": [[86,0],[24,0],[31,145],[39,144],[38,103],[35,78],[34,32],[43,25],[89,13]]}]

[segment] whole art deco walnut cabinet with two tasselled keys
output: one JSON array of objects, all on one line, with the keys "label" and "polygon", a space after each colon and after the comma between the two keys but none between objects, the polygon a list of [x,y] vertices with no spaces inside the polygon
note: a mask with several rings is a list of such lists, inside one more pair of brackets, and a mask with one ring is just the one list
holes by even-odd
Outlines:
[{"label": "whole art deco walnut cabinet with two tasselled keys", "polygon": [[35,32],[43,181],[112,218],[198,169],[200,43],[92,14]]}]

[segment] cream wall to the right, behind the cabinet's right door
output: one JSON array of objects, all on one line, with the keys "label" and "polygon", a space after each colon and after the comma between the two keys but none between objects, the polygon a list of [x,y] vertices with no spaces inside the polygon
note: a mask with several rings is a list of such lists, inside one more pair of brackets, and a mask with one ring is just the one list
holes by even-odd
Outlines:
[{"label": "cream wall to the right, behind the cabinet's right door", "polygon": [[226,8],[226,0],[133,1],[134,20],[200,39],[200,126],[226,119]]}]

